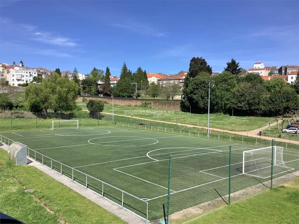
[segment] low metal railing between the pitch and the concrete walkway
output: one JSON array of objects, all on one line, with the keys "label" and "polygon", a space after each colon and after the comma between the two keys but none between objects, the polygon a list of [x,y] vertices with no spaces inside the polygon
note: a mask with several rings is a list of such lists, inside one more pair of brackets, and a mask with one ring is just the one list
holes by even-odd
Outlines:
[{"label": "low metal railing between the pitch and the concrete walkway", "polygon": [[[5,136],[2,136],[2,135],[0,135],[0,137],[1,137],[1,142],[3,142],[4,144],[11,145],[13,142],[15,142],[15,141],[13,141],[13,140],[11,140],[11,139],[5,137]],[[69,178],[69,177],[68,177],[67,175],[65,175],[64,172],[62,171],[62,166],[67,167],[67,168],[70,168],[70,169],[72,170],[72,181],[75,181],[75,179],[78,179],[79,181],[81,181],[81,182],[84,183],[83,180],[80,180],[79,178],[75,178],[75,177],[74,177],[74,171],[75,171],[75,172],[78,172],[78,173],[80,173],[80,174],[85,175],[85,177],[86,177],[86,179],[85,179],[85,188],[88,189],[88,190],[91,190],[91,189],[88,188],[88,186],[91,186],[91,187],[93,187],[93,186],[92,186],[92,185],[88,185],[88,183],[87,183],[87,177],[90,177],[90,178],[94,179],[95,181],[100,182],[100,183],[102,184],[102,190],[101,190],[102,194],[101,194],[101,196],[102,196],[103,198],[105,198],[106,200],[109,200],[109,201],[115,203],[116,205],[120,206],[121,208],[123,208],[123,209],[125,209],[125,210],[127,210],[127,211],[129,211],[129,212],[131,212],[131,213],[133,213],[133,214],[135,214],[135,215],[137,215],[138,217],[140,217],[140,218],[142,218],[142,219],[144,219],[144,220],[146,220],[146,221],[148,222],[148,202],[147,202],[147,201],[145,201],[145,200],[143,200],[143,199],[141,199],[141,198],[139,198],[139,197],[136,197],[135,195],[130,194],[130,193],[126,192],[126,191],[123,191],[123,190],[121,190],[121,189],[119,189],[119,188],[117,188],[117,187],[115,187],[115,186],[113,186],[113,185],[111,185],[111,184],[108,184],[108,183],[106,183],[106,182],[104,182],[104,181],[102,181],[102,180],[100,180],[100,179],[97,179],[97,178],[95,178],[95,177],[92,177],[92,176],[90,176],[89,174],[86,174],[86,173],[84,173],[84,172],[82,172],[82,171],[79,171],[79,170],[77,170],[77,169],[75,169],[75,168],[72,168],[72,167],[70,167],[70,166],[68,166],[68,165],[65,165],[65,164],[63,164],[63,163],[61,163],[61,162],[59,162],[59,161],[57,161],[57,160],[55,160],[55,159],[52,159],[52,158],[50,158],[50,157],[48,157],[48,156],[45,156],[44,154],[41,154],[41,153],[39,153],[39,152],[37,152],[37,151],[31,149],[31,148],[28,148],[28,147],[27,147],[27,149],[28,149],[28,153],[27,153],[28,157],[30,157],[30,156],[31,156],[32,158],[34,157],[34,159],[35,159],[36,161],[41,160],[41,161],[42,161],[42,165],[45,165],[45,164],[46,164],[46,163],[44,163],[44,159],[45,159],[45,158],[50,159],[50,164],[48,164],[48,165],[50,165],[50,166],[47,166],[47,165],[46,165],[46,167],[51,168],[52,170],[54,170],[54,166],[52,166],[52,162],[57,162],[58,164],[60,164],[60,174],[63,175],[63,176],[65,176],[65,177],[67,177],[67,178]],[[30,154],[30,151],[32,152],[32,154]],[[34,154],[33,154],[33,152],[34,152]],[[41,158],[38,159],[38,158],[36,157],[36,155],[41,156]],[[56,168],[56,169],[57,169],[57,168]],[[56,171],[56,170],[54,170],[54,171]],[[56,172],[58,172],[58,171],[56,171]],[[59,172],[58,172],[58,173],[59,173]],[[69,178],[69,179],[70,179],[70,178]],[[75,181],[75,182],[77,182],[77,181]],[[77,183],[80,184],[80,185],[82,185],[82,186],[84,186],[84,185],[81,184],[80,182],[77,182]],[[107,197],[104,196],[104,194],[105,194],[105,193],[104,193],[104,192],[105,192],[104,186],[105,186],[105,185],[106,185],[106,186],[109,186],[109,187],[111,187],[111,188],[113,188],[113,189],[115,189],[115,190],[117,190],[117,191],[120,191],[120,192],[122,193],[121,205],[118,204],[118,203],[116,203],[115,201],[112,201],[112,200],[110,200],[109,198],[107,198]],[[94,188],[94,187],[93,187],[93,188]],[[95,189],[96,189],[96,188],[95,188]],[[93,190],[91,190],[91,191],[93,191]],[[96,194],[98,194],[96,191],[93,191],[93,192],[96,193]],[[135,198],[135,199],[137,199],[137,200],[139,200],[139,201],[145,203],[145,205],[146,205],[146,211],[145,211],[145,213],[144,213],[144,212],[140,212],[141,214],[144,214],[144,215],[145,215],[145,218],[142,217],[141,215],[136,214],[134,211],[131,211],[131,210],[129,210],[128,208],[125,208],[125,207],[124,207],[124,204],[125,204],[125,203],[124,203],[124,199],[123,199],[123,195],[124,195],[124,194],[126,194],[126,195],[128,195],[128,196],[130,196],[130,197],[133,197],[133,198]],[[100,195],[100,194],[98,194],[98,195]],[[113,196],[112,196],[112,197],[113,197]],[[138,211],[137,208],[136,208],[135,210]]]}]

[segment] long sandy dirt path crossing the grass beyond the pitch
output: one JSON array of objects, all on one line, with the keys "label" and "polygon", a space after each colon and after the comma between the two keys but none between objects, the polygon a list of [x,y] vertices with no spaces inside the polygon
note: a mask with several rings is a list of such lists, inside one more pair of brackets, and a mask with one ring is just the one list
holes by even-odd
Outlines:
[{"label": "long sandy dirt path crossing the grass beyond the pitch", "polygon": [[[83,110],[83,111],[88,111],[88,110]],[[105,113],[105,114],[110,114],[112,115],[112,113],[106,113],[106,112],[101,112],[101,113]],[[122,117],[131,117],[131,116],[127,116],[127,115],[115,115],[115,116],[122,116]],[[160,123],[167,123],[167,124],[175,124],[176,122],[168,122],[168,121],[158,121],[158,120],[153,120],[153,119],[147,119],[147,118],[140,118],[140,117],[133,117],[135,119],[140,119],[140,120],[146,120],[146,121],[155,121],[155,122],[160,122]],[[207,129],[207,127],[202,127],[202,126],[197,126],[197,125],[187,125],[187,124],[181,124],[178,123],[178,125],[183,125],[186,127],[195,127],[195,128],[205,128]],[[276,122],[273,122],[272,124],[270,124],[270,126],[276,125]],[[268,126],[265,126],[266,128],[268,128]],[[249,137],[254,137],[257,138],[256,133],[258,131],[260,131],[261,129],[265,129],[265,127],[262,128],[258,128],[256,130],[252,130],[252,131],[228,131],[228,130],[223,130],[223,129],[218,129],[218,128],[210,128],[214,131],[221,131],[221,132],[226,132],[226,133],[231,133],[231,134],[238,134],[238,135],[244,135],[244,136],[249,136]],[[258,131],[257,131],[258,130]],[[267,136],[259,136],[261,139],[267,139],[267,140],[271,140],[273,139],[273,137],[267,137]],[[281,139],[281,138],[274,138],[275,141],[279,141],[279,142],[288,142],[288,143],[293,143],[293,144],[298,144],[299,145],[299,141],[294,141],[294,140],[288,140],[288,139]]]}]

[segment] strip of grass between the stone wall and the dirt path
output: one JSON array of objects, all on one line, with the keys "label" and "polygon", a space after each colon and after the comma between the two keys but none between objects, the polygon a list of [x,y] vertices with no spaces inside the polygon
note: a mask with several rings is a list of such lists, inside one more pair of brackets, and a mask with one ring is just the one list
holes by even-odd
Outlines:
[{"label": "strip of grass between the stone wall and the dirt path", "polygon": [[[86,108],[86,103],[79,102],[78,105],[83,109]],[[104,111],[112,113],[112,105],[105,104]],[[166,111],[155,109],[142,108],[142,107],[130,107],[130,106],[119,106],[114,105],[114,113],[120,115],[131,115],[133,117],[155,119],[160,121],[176,122],[178,123],[197,125],[197,114],[187,113],[181,111]],[[210,128],[220,128],[229,131],[251,131],[259,127],[267,125],[269,122],[273,122],[271,117],[250,117],[250,116],[230,116],[222,113],[211,113],[210,114]],[[207,127],[208,126],[208,114],[198,114],[198,125]]]}]

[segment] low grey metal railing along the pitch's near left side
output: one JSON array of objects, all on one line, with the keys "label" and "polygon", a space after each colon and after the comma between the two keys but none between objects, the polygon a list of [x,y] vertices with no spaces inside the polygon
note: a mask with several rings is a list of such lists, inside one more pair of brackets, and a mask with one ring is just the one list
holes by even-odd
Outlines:
[{"label": "low grey metal railing along the pitch's near left side", "polygon": [[[13,141],[13,140],[11,140],[11,139],[5,137],[5,136],[2,136],[2,135],[0,135],[0,137],[1,137],[1,142],[4,143],[4,144],[11,145],[13,142],[15,142],[15,141]],[[52,158],[50,158],[50,157],[48,157],[48,156],[45,156],[44,154],[41,154],[41,153],[39,153],[39,152],[37,152],[37,151],[31,149],[31,148],[28,148],[28,147],[27,147],[27,149],[28,149],[28,153],[27,153],[28,157],[30,157],[30,158],[34,158],[35,161],[41,162],[42,165],[45,165],[46,167],[50,168],[51,170],[54,170],[54,171],[56,171],[57,173],[60,173],[61,175],[65,176],[65,177],[67,177],[67,178],[69,178],[69,179],[72,179],[72,181],[77,182],[78,184],[84,186],[86,189],[93,191],[94,193],[96,193],[96,194],[102,196],[103,198],[105,198],[106,200],[109,200],[109,201],[113,202],[114,204],[120,206],[121,208],[123,208],[123,209],[125,209],[125,210],[127,210],[127,211],[129,211],[129,212],[131,212],[131,213],[133,213],[133,214],[135,214],[135,215],[137,215],[138,217],[140,217],[140,218],[142,218],[142,219],[144,219],[144,220],[146,220],[146,221],[148,222],[148,202],[147,202],[147,201],[145,201],[145,200],[143,200],[143,199],[141,199],[141,198],[139,198],[139,197],[136,197],[135,195],[130,194],[130,193],[126,192],[126,191],[123,191],[123,190],[121,190],[121,189],[119,189],[119,188],[117,188],[117,187],[115,187],[115,186],[113,186],[113,185],[111,185],[111,184],[108,184],[108,183],[106,183],[106,182],[104,182],[104,181],[102,181],[102,180],[100,180],[100,179],[97,179],[97,178],[95,178],[95,177],[92,177],[92,176],[89,175],[89,174],[86,174],[86,173],[84,173],[84,172],[82,172],[82,171],[79,171],[79,170],[77,170],[77,169],[75,169],[75,168],[72,168],[72,167],[70,167],[70,166],[68,166],[68,165],[65,165],[65,164],[63,164],[63,163],[61,163],[61,162],[59,162],[59,161],[57,161],[57,160],[55,160],[55,159],[52,159]],[[30,153],[30,152],[31,152],[31,153]],[[46,162],[46,159],[48,159],[47,162]],[[49,162],[49,163],[48,163],[48,162]],[[53,163],[56,163],[56,166],[57,166],[57,164],[60,165],[60,168],[57,168],[55,165],[53,165]],[[67,169],[68,169],[68,170],[71,170],[71,173],[72,173],[72,174],[68,174],[66,170],[65,170],[65,171],[62,171],[62,168],[63,168],[63,167],[64,167],[66,170],[67,170]],[[82,179],[79,179],[79,178],[75,177],[75,176],[74,176],[74,172],[78,172],[79,174],[82,174],[83,176],[85,176],[85,181],[82,180]],[[70,178],[70,177],[71,177],[71,178]],[[92,184],[91,182],[88,183],[88,177],[91,178],[91,179],[93,179],[94,181],[98,182],[98,183],[101,185],[101,189],[98,189],[96,186],[91,185],[91,184]],[[76,181],[76,179],[77,179],[78,181]],[[82,183],[83,183],[83,184],[82,184]],[[110,187],[110,188],[112,188],[112,189],[114,189],[114,190],[116,190],[116,191],[118,191],[118,192],[121,192],[121,200],[120,200],[120,199],[117,199],[116,196],[113,196],[113,195],[109,194],[108,192],[105,192],[105,189],[104,189],[105,186],[106,186],[106,187]],[[94,188],[94,189],[97,189],[97,191],[100,191],[101,194],[99,194],[97,191],[94,191],[94,190],[92,190],[92,189],[89,189],[88,187],[92,187],[92,188]],[[107,190],[107,191],[108,191],[108,190]],[[105,196],[105,195],[107,195],[107,196]],[[129,205],[128,202],[125,202],[125,201],[124,201],[124,195],[127,195],[127,196],[129,196],[129,197],[135,198],[135,199],[141,201],[142,203],[144,203],[144,204],[146,205],[146,211],[144,211],[144,212],[143,212],[143,211],[140,211],[140,210],[138,210],[137,208],[132,207],[132,205]],[[110,198],[114,199],[114,200],[109,199],[108,196],[109,196]],[[120,203],[117,203],[117,201],[120,202]],[[129,208],[126,208],[126,207],[125,207],[126,205],[127,205],[129,208],[132,208],[132,210],[138,211],[139,214],[137,214],[136,212],[130,210]],[[142,214],[143,214],[145,217],[142,217]]]}]

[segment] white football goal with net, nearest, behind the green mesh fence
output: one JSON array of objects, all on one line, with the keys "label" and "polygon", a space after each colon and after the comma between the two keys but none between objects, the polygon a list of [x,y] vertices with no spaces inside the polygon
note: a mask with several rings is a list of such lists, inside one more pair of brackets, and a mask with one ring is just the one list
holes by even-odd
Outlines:
[{"label": "white football goal with net, nearest, behind the green mesh fence", "polygon": [[243,151],[243,174],[265,179],[293,169],[283,161],[283,147],[273,146],[273,155],[272,146]]}]

